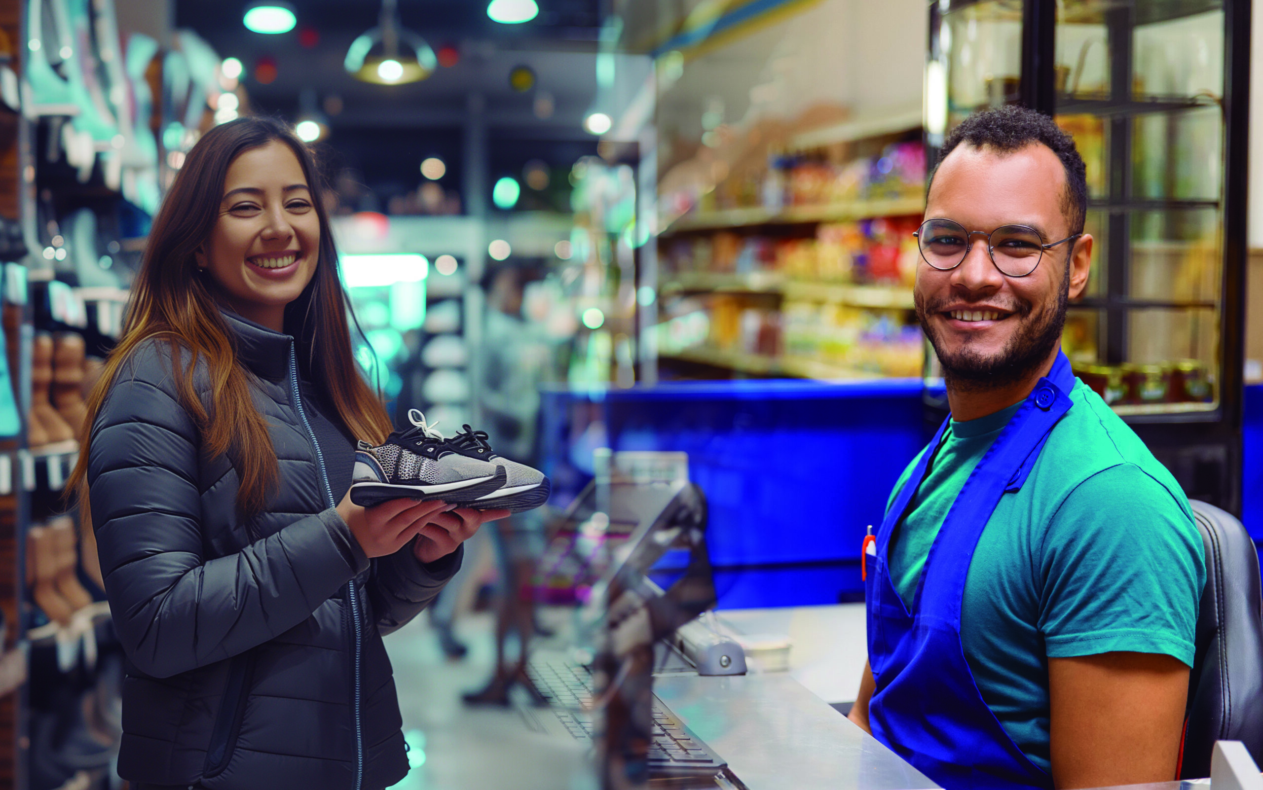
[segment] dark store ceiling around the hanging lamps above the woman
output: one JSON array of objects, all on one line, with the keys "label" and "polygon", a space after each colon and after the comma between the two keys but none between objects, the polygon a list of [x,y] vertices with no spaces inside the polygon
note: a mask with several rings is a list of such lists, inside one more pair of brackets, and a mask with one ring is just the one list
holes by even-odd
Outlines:
[{"label": "dark store ceiling around the hanging lamps above the woman", "polygon": [[[340,112],[327,114],[328,145],[370,188],[389,194],[416,187],[416,167],[427,155],[448,162],[445,183],[460,183],[461,129],[471,95],[484,97],[494,172],[522,164],[496,163],[496,151],[504,148],[496,140],[536,141],[523,149],[524,160],[543,158],[558,167],[589,153],[595,140],[584,133],[582,119],[596,95],[600,4],[539,0],[534,20],[501,25],[488,19],[486,0],[399,0],[404,28],[419,33],[436,50],[450,44],[460,52],[456,66],[440,67],[428,80],[402,86],[364,83],[342,68],[351,42],[376,27],[379,0],[292,0],[298,27],[282,35],[246,30],[241,24],[246,4],[241,0],[176,0],[174,23],[195,30],[221,57],[241,59],[248,71],[245,88],[256,112],[298,120],[304,93],[307,103],[321,111],[341,105]],[[308,44],[314,33],[313,45],[303,45],[303,30],[308,30]],[[253,78],[264,57],[277,64],[270,85]],[[509,72],[517,66],[536,72],[534,90],[519,93],[510,88]],[[552,114],[543,117],[536,111],[541,92],[553,102]],[[330,97],[336,101],[327,102]]]}]

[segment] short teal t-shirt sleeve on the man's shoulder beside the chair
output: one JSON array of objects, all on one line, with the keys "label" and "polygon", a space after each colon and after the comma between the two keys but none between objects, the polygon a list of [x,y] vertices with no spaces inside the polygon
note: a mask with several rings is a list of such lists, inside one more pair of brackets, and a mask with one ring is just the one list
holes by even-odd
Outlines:
[{"label": "short teal t-shirt sleeve on the man's shoulder beside the chair", "polygon": [[1119,464],[1079,485],[1048,524],[1041,563],[1050,657],[1159,652],[1192,666],[1201,535],[1140,467]]}]

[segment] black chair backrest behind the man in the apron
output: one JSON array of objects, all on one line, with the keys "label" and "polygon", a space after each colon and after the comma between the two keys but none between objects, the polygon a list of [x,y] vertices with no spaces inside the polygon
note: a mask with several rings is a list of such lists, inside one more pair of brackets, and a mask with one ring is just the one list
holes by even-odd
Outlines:
[{"label": "black chair backrest behind the man in the apron", "polygon": [[1215,741],[1242,741],[1255,762],[1263,758],[1258,554],[1231,514],[1196,500],[1190,505],[1206,546],[1206,587],[1188,676],[1181,779],[1210,776]]}]

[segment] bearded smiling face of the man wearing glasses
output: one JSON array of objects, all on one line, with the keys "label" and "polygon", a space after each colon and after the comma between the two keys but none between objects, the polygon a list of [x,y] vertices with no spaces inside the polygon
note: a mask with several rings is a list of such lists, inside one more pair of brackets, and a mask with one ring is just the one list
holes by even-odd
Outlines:
[{"label": "bearded smiling face of the man wearing glasses", "polygon": [[[988,233],[1003,225],[1026,225],[1048,244],[1074,232],[1062,209],[1065,189],[1061,160],[1045,145],[997,154],[962,144],[938,167],[925,218],[955,220],[967,231]],[[1038,368],[1057,348],[1066,300],[1087,284],[1092,237],[1046,250],[1023,278],[1000,274],[986,239],[971,240],[955,269],[918,262],[917,317],[949,379],[1002,386]]]}]

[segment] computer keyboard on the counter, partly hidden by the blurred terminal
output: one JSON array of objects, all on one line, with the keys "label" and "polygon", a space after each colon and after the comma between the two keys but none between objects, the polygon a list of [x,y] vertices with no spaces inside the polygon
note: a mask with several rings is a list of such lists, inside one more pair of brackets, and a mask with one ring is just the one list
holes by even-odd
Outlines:
[{"label": "computer keyboard on the counter, partly hidden by the blurred terminal", "polygon": [[[552,704],[562,726],[578,740],[591,740],[592,675],[582,664],[557,659],[532,659],[527,676]],[[655,776],[717,774],[726,762],[710,750],[657,697],[650,723],[649,772]]]}]

